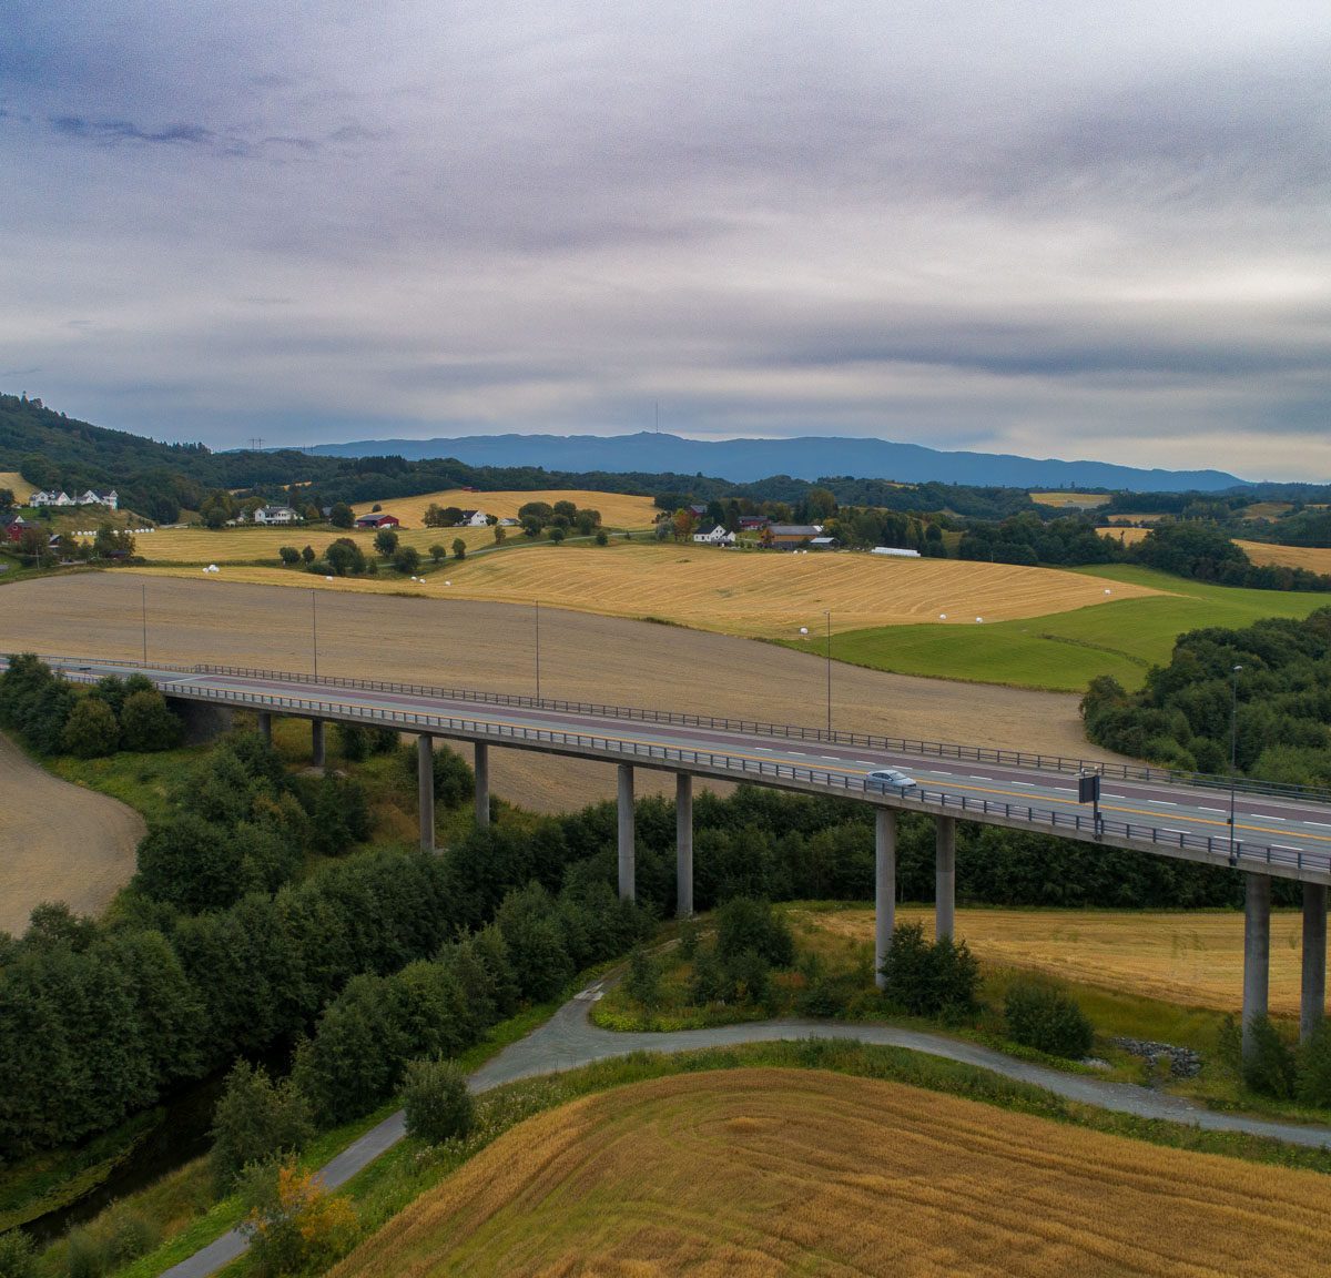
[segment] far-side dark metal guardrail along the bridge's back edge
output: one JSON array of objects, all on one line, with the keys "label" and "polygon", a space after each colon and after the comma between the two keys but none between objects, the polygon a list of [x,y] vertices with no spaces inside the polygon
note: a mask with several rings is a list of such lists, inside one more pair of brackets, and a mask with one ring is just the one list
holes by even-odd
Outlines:
[{"label": "far-side dark metal guardrail along the bridge's back edge", "polygon": [[[56,666],[120,666],[144,668],[141,662],[102,660],[93,658],[41,656]],[[523,696],[508,692],[480,692],[474,688],[443,688],[431,684],[397,683],[387,679],[346,679],[335,675],[305,675],[282,670],[257,670],[245,666],[194,666],[152,662],[146,668],[169,670],[190,675],[220,675],[238,679],[280,679],[284,683],[303,683],[313,687],[353,688],[363,692],[395,692],[406,696],[431,696],[441,700],[470,702],[484,706],[511,706],[519,710],[548,710],[560,714],[595,715],[604,719],[624,719],[635,723],[663,723],[685,728],[709,728],[720,732],[743,732],[749,736],[781,738],[799,742],[827,742],[889,753],[918,755],[929,759],[954,759],[965,763],[996,764],[998,767],[1030,768],[1037,772],[1099,772],[1101,776],[1122,781],[1165,783],[1206,789],[1229,791],[1231,779],[1206,772],[1177,772],[1153,768],[1149,764],[1106,763],[1098,759],[1071,759],[1065,755],[1028,753],[1020,749],[1000,749],[988,746],[960,746],[948,742],[910,740],[908,738],[874,736],[864,732],[843,732],[827,728],[805,728],[795,724],[764,723],[756,719],[725,719],[713,715],[692,715],[677,711],[647,710],[638,706],[600,706],[588,702],[568,702],[554,698]],[[1236,777],[1233,787],[1246,795],[1270,795],[1275,799],[1296,799],[1307,803],[1331,804],[1331,789],[1312,785],[1276,785]]]}]

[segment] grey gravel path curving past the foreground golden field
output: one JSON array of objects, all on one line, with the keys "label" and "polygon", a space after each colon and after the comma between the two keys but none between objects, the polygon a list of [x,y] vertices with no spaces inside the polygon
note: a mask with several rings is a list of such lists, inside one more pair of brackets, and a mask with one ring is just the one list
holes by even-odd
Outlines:
[{"label": "grey gravel path curving past the foreground golden field", "polygon": [[[1306,1145],[1312,1149],[1331,1146],[1331,1128],[1300,1126],[1221,1114],[1201,1109],[1179,1097],[1165,1096],[1127,1082],[1106,1082],[1085,1074],[1066,1074],[1044,1065],[1013,1060],[978,1044],[958,1042],[940,1034],[896,1029],[892,1025],[845,1025],[835,1021],[757,1021],[745,1025],[721,1025],[715,1029],[684,1029],[673,1033],[616,1033],[598,1029],[587,1013],[599,997],[598,981],[566,1002],[544,1025],[499,1053],[471,1076],[473,1092],[487,1092],[504,1082],[575,1069],[592,1061],[634,1052],[687,1052],[695,1048],[736,1046],[744,1042],[779,1042],[799,1038],[847,1038],[876,1046],[909,1048],[926,1056],[978,1065],[1008,1078],[1030,1082],[1057,1096],[1086,1105],[1098,1105],[1139,1118],[1190,1124],[1207,1132],[1240,1132]],[[357,1172],[371,1164],[405,1134],[402,1112],[385,1118],[347,1146],[322,1169],[325,1185],[337,1189]],[[162,1278],[208,1278],[209,1274],[236,1259],[245,1250],[245,1239],[232,1230],[202,1251],[166,1270]]]}]

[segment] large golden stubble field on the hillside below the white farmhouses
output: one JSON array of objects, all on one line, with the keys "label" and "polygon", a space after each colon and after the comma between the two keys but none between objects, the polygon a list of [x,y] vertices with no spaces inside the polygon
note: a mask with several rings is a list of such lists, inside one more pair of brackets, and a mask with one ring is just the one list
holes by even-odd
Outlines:
[{"label": "large golden stubble field on the hillside below the white farmhouses", "polygon": [[[178,570],[160,571],[178,575]],[[373,592],[406,588],[429,598],[500,603],[539,600],[745,638],[796,639],[803,626],[809,630],[811,646],[824,627],[825,610],[832,612],[833,631],[937,622],[942,614],[946,624],[974,626],[981,616],[986,622],[1047,616],[1110,598],[1158,594],[1123,582],[1106,587],[1099,578],[1054,568],[856,554],[791,555],[646,540],[615,540],[604,547],[518,546],[450,563],[447,572],[434,572],[421,584],[403,586],[397,574],[311,582],[309,574],[264,567],[229,568],[226,579]]]}]

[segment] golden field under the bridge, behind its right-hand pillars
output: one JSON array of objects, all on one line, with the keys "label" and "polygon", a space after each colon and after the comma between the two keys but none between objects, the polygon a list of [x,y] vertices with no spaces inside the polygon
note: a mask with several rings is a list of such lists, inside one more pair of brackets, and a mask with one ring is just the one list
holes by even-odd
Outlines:
[{"label": "golden field under the bridge, behind its right-hand pillars", "polygon": [[[835,936],[873,940],[873,911],[801,911],[800,921]],[[933,935],[933,908],[908,905],[901,921]],[[1271,916],[1271,1012],[1298,1016],[1302,915]],[[1165,1002],[1231,1012],[1243,994],[1243,916],[1234,911],[958,909],[957,936],[982,962]]]}]

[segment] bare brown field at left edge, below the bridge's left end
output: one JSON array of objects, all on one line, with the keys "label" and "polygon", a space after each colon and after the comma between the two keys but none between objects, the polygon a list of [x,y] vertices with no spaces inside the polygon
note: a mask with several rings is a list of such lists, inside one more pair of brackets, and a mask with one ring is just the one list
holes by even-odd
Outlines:
[{"label": "bare brown field at left edge, below the bridge's left end", "polygon": [[0,734],[0,932],[23,932],[43,901],[101,913],[144,831],[132,808],[61,781]]}]

